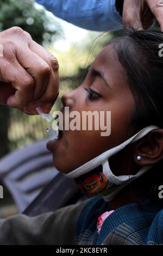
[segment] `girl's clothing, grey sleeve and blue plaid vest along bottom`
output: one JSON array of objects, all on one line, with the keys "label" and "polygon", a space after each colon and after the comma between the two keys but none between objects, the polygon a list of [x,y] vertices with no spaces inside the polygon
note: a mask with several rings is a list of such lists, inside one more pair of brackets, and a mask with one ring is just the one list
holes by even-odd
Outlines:
[{"label": "girl's clothing, grey sleeve and blue plaid vest along bottom", "polygon": [[0,220],[1,245],[163,245],[163,206],[155,200],[108,211],[101,196],[37,217],[16,215]]}]

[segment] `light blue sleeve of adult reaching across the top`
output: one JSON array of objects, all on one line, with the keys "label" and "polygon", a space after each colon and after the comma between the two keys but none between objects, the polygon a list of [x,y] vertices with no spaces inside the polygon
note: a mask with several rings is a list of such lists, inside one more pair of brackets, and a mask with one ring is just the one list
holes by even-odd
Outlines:
[{"label": "light blue sleeve of adult reaching across the top", "polygon": [[36,0],[55,16],[92,31],[122,29],[115,0]]}]

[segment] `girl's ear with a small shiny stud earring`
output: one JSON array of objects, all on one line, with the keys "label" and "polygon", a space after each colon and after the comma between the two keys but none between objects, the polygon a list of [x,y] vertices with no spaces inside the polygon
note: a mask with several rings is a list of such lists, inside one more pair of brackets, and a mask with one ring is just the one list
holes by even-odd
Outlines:
[{"label": "girl's ear with a small shiny stud earring", "polygon": [[133,161],[137,165],[148,166],[159,162],[163,159],[163,129],[149,132],[133,146]]}]

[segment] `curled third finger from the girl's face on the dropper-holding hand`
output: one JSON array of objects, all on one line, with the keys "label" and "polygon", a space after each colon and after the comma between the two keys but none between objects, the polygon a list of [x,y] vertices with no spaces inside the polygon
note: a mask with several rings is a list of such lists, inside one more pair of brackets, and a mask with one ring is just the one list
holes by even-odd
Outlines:
[{"label": "curled third finger from the girl's face on the dropper-holding hand", "polygon": [[0,57],[0,81],[12,84],[15,94],[9,96],[7,104],[10,107],[26,106],[33,99],[34,80],[17,62],[15,56],[10,62]]}]

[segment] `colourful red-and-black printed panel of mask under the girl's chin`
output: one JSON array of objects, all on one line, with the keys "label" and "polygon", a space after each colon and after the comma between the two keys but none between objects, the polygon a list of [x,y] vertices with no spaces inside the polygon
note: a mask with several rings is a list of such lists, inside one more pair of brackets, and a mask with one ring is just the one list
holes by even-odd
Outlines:
[{"label": "colourful red-and-black printed panel of mask under the girl's chin", "polygon": [[80,190],[92,195],[101,194],[102,196],[105,196],[119,187],[112,182],[109,182],[108,178],[106,178],[103,173],[102,164],[91,170],[89,173],[83,174],[74,180]]}]

